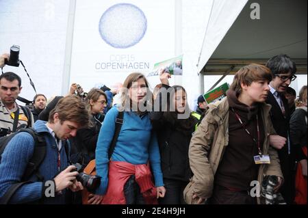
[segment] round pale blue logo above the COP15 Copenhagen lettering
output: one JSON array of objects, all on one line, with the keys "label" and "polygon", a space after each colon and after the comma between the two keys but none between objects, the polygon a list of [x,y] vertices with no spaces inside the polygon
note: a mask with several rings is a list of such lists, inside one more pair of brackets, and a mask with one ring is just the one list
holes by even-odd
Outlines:
[{"label": "round pale blue logo above the COP15 Copenhagen lettering", "polygon": [[119,3],[103,13],[99,21],[99,33],[112,47],[126,49],[142,40],[146,23],[146,16],[136,5]]}]

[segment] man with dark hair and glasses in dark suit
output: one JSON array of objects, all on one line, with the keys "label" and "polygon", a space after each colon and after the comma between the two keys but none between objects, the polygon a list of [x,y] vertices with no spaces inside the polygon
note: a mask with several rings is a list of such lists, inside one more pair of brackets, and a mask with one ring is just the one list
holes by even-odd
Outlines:
[{"label": "man with dark hair and glasses in dark suit", "polygon": [[270,81],[270,92],[266,103],[272,105],[270,118],[277,135],[287,138],[285,146],[274,147],[278,150],[284,182],[281,187],[281,194],[287,204],[293,204],[295,195],[295,159],[294,149],[291,148],[289,137],[290,109],[287,99],[283,95],[290,83],[296,79],[296,65],[289,56],[277,55],[268,60],[266,66],[272,71]]}]

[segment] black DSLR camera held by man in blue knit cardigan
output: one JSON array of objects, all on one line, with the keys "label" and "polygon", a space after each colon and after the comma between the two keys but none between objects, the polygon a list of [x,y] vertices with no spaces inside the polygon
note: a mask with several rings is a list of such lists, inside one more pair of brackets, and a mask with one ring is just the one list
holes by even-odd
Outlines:
[{"label": "black DSLR camera held by man in blue knit cardigan", "polygon": [[91,193],[94,193],[94,191],[101,185],[101,176],[91,176],[89,174],[85,174],[82,172],[82,166],[79,163],[73,164],[76,169],[73,170],[79,172],[78,176],[76,176],[77,181],[81,182],[81,184],[88,189]]}]

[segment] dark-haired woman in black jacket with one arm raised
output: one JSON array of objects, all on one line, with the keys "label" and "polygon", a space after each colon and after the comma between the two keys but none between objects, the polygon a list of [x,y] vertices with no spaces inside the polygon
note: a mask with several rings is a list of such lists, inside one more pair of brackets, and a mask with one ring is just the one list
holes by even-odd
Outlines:
[{"label": "dark-haired woman in black jacket with one arm raised", "polygon": [[151,113],[166,188],[166,195],[159,200],[159,204],[185,204],[183,191],[192,176],[188,148],[198,119],[190,113],[185,89],[180,85],[170,87],[168,78],[170,74],[162,72],[160,80],[163,85],[155,100],[155,105],[161,107]]}]

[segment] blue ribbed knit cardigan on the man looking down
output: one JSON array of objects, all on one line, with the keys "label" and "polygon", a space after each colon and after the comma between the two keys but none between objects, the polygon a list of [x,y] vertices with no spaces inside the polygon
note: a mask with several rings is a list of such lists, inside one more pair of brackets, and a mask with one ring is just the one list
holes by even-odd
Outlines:
[{"label": "blue ribbed knit cardigan on the man looking down", "polygon": [[[44,134],[47,143],[46,156],[39,167],[39,174],[43,176],[44,181],[52,180],[54,176],[68,166],[68,160],[64,146],[60,149],[60,171],[57,168],[57,146],[55,138],[49,133],[46,122],[38,120],[34,128],[40,134]],[[64,141],[62,141],[64,145]],[[25,172],[25,167],[34,152],[34,139],[29,133],[18,133],[13,137],[1,156],[0,163],[0,197],[2,197],[10,186],[20,182]],[[55,197],[44,197],[42,193],[43,182],[38,182],[36,176],[30,178],[31,183],[27,183],[19,188],[12,196],[11,204],[22,204],[36,202],[40,200],[42,204],[64,204],[64,194],[55,195]]]}]

